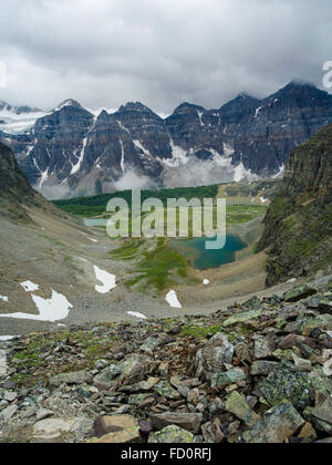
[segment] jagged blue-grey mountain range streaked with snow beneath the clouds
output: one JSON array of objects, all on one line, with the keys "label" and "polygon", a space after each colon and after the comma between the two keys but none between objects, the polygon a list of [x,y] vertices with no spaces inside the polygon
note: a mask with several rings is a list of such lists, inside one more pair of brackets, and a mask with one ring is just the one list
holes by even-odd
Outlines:
[{"label": "jagged blue-grey mountain range streaked with snow beneath the clouds", "polygon": [[183,103],[166,120],[139,102],[95,116],[68,100],[24,133],[2,125],[0,140],[31,184],[54,198],[107,192],[124,177],[122,188],[131,188],[131,174],[158,186],[278,176],[290,152],[329,123],[332,96],[292,82],[219,110]]}]

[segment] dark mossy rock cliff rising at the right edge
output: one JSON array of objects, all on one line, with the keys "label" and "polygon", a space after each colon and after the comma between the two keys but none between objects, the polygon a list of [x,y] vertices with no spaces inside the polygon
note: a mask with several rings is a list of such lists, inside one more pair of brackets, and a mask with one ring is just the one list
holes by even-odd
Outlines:
[{"label": "dark mossy rock cliff rising at the right edge", "polygon": [[258,250],[270,254],[268,285],[331,268],[332,125],[291,153],[264,223]]}]

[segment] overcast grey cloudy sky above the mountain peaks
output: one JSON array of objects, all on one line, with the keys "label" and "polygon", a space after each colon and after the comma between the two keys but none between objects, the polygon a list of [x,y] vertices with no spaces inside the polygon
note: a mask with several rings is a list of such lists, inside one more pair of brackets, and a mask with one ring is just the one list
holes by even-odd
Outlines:
[{"label": "overcast grey cloudy sky above the mountain peaks", "polygon": [[0,99],[52,108],[142,101],[168,114],[292,79],[322,87],[331,0],[1,0]]}]

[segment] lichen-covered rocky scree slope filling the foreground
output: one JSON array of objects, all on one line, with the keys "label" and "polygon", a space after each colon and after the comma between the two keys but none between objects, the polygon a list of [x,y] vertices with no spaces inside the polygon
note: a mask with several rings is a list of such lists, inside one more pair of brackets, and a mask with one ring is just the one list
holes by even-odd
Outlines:
[{"label": "lichen-covered rocky scree slope filling the foreground", "polygon": [[2,443],[332,442],[332,277],[209,317],[0,349]]}]

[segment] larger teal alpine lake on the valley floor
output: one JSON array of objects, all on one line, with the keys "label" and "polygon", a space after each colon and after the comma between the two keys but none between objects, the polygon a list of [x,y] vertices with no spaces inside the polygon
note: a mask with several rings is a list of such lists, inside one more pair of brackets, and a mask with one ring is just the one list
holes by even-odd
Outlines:
[{"label": "larger teal alpine lake on the valley floor", "polygon": [[247,245],[236,235],[227,235],[226,245],[219,250],[206,250],[206,237],[194,239],[173,239],[169,245],[173,249],[188,258],[194,268],[206,270],[219,268],[221,265],[235,261],[236,252]]}]

